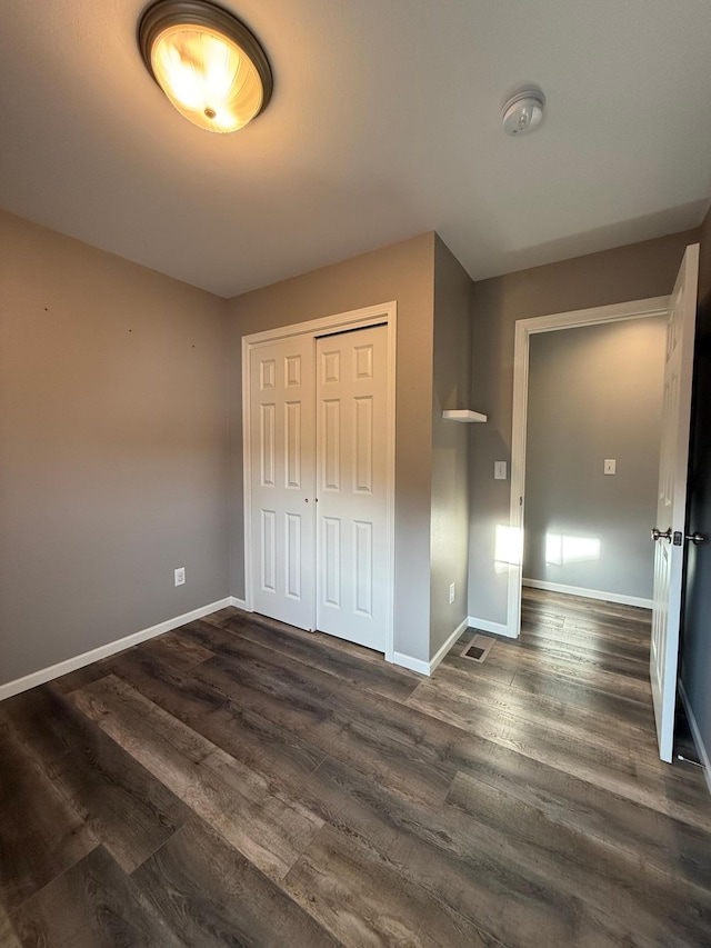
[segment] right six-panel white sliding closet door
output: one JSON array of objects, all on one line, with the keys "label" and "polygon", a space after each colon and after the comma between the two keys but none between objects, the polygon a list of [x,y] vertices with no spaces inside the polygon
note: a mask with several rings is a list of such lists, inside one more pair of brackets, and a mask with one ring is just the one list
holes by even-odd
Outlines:
[{"label": "right six-panel white sliding closet door", "polygon": [[384,326],[317,340],[317,628],[384,651]]}]

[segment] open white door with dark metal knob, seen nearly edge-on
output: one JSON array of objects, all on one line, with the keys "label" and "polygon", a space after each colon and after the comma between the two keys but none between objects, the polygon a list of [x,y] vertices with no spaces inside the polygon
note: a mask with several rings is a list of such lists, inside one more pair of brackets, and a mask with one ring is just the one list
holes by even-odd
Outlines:
[{"label": "open white door with dark metal knob, seen nearly edge-on", "polygon": [[674,741],[698,280],[699,245],[694,243],[687,248],[671,299],[657,526],[652,530],[655,549],[650,678],[659,756],[668,762]]}]

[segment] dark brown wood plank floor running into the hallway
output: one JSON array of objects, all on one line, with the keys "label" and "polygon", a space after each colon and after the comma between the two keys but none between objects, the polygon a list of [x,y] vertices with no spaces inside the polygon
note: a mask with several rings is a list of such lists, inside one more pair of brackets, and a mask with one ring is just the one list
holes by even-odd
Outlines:
[{"label": "dark brown wood plank floor running into the hallway", "polygon": [[525,589],[431,679],[226,609],[0,705],[0,946],[709,946],[649,613]]}]

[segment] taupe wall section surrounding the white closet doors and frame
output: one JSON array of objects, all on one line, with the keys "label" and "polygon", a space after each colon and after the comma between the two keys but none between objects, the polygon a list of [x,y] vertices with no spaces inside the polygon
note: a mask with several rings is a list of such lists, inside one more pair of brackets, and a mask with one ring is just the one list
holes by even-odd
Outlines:
[{"label": "taupe wall section surrounding the white closet doors and frame", "polygon": [[230,301],[231,585],[244,596],[242,336],[397,300],[395,650],[430,656],[434,234],[364,253]]}]

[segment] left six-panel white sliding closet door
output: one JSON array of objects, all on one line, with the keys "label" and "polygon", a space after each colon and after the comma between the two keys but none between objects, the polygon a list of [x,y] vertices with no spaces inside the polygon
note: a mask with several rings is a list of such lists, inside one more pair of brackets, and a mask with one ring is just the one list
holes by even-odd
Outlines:
[{"label": "left six-panel white sliding closet door", "polygon": [[250,357],[252,597],[258,612],[313,629],[313,338]]}]

